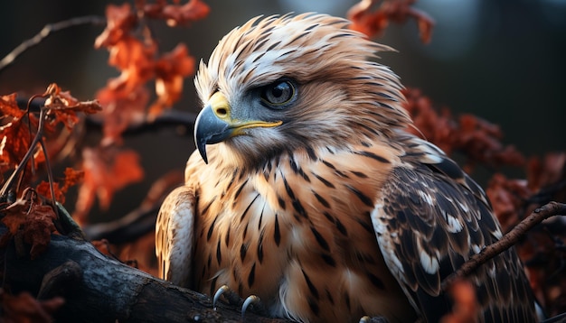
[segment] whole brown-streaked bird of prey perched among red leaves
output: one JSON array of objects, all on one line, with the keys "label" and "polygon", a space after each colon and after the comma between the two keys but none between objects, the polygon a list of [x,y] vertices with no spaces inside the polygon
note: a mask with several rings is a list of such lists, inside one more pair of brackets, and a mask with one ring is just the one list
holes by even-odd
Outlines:
[{"label": "whole brown-streaked bird of prey perched among red leaves", "polygon": [[[165,198],[165,280],[259,297],[273,317],[438,321],[440,282],[502,237],[484,191],[409,134],[391,51],[325,14],[256,17],[195,78],[184,185]],[[469,278],[479,321],[534,321],[514,248]]]}]

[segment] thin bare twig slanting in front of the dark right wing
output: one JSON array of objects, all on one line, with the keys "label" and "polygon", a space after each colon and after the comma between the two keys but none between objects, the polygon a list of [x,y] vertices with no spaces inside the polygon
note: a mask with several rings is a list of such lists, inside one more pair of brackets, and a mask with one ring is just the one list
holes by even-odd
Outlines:
[{"label": "thin bare twig slanting in front of the dark right wing", "polygon": [[442,291],[447,291],[448,287],[451,286],[454,281],[457,281],[459,278],[466,277],[470,273],[474,272],[480,265],[486,263],[497,254],[503,253],[505,250],[516,244],[519,238],[532,229],[533,226],[538,225],[549,217],[559,215],[566,215],[566,204],[550,202],[543,205],[541,208],[535,209],[529,217],[524,218],[523,221],[504,235],[501,240],[492,245],[487,245],[486,248],[484,248],[484,250],[482,250],[479,254],[474,254],[470,257],[470,259],[468,259],[467,262],[458,269],[458,271],[452,272],[447,278],[445,278],[441,284]]}]

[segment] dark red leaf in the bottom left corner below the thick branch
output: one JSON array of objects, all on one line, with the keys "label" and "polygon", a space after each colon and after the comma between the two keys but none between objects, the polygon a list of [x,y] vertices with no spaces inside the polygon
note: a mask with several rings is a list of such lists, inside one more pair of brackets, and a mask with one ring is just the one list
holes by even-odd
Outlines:
[{"label": "dark red leaf in the bottom left corner below the thick branch", "polygon": [[27,291],[14,296],[0,290],[0,305],[2,306],[0,321],[49,323],[53,321],[52,313],[64,302],[60,297],[51,300],[35,300]]}]

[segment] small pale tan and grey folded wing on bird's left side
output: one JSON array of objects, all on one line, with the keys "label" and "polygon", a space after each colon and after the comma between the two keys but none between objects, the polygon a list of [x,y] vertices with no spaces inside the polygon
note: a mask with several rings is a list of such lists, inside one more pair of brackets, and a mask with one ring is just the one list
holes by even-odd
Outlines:
[{"label": "small pale tan and grey folded wing on bird's left side", "polygon": [[159,275],[175,285],[189,287],[194,249],[193,189],[174,189],[165,198],[156,222],[156,255]]}]

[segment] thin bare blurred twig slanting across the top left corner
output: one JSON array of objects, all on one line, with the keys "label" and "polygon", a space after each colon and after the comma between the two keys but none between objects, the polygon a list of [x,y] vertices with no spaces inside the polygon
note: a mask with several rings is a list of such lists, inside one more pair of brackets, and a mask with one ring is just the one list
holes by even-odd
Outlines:
[{"label": "thin bare blurred twig slanting across the top left corner", "polygon": [[20,56],[24,51],[29,50],[33,46],[42,42],[47,36],[52,34],[52,32],[59,32],[63,29],[77,26],[80,24],[103,24],[106,23],[106,19],[99,15],[86,15],[83,17],[71,18],[69,20],[63,20],[59,23],[48,23],[46,24],[41,32],[38,32],[35,36],[27,41],[22,42],[13,51],[10,51],[4,59],[0,60],[0,71],[5,69],[8,65],[12,64],[14,60]]}]

